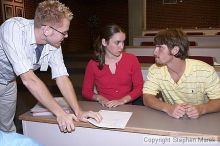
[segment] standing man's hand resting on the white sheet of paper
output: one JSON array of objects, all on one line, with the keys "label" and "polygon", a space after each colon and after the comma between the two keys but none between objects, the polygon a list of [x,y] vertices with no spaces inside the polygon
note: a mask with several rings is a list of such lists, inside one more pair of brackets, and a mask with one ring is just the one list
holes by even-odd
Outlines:
[{"label": "standing man's hand resting on the white sheet of paper", "polygon": [[102,116],[98,112],[93,111],[81,111],[77,115],[78,119],[83,122],[88,122],[89,118],[95,119],[98,123],[102,121]]}]

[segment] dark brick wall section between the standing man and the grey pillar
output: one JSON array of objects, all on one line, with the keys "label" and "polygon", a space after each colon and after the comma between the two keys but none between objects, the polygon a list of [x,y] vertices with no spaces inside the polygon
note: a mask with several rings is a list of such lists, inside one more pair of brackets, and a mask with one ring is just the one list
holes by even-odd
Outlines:
[{"label": "dark brick wall section between the standing man and the grey pillar", "polygon": [[[97,16],[98,28],[108,23],[117,23],[128,32],[127,0],[74,0],[65,2],[74,13],[69,38],[63,44],[64,53],[92,52],[92,38],[97,29],[91,29],[88,19]],[[128,34],[128,33],[127,33]]]}]

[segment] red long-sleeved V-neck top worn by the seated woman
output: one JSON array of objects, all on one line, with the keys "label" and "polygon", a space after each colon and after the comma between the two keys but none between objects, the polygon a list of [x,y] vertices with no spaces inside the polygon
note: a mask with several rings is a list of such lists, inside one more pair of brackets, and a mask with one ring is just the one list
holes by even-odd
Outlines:
[{"label": "red long-sleeved V-neck top worn by the seated woman", "polygon": [[141,65],[133,54],[123,53],[121,60],[116,64],[115,74],[109,66],[98,69],[98,62],[90,60],[86,67],[82,87],[82,95],[92,100],[94,86],[99,95],[108,100],[119,100],[130,95],[132,100],[142,95],[143,77]]}]

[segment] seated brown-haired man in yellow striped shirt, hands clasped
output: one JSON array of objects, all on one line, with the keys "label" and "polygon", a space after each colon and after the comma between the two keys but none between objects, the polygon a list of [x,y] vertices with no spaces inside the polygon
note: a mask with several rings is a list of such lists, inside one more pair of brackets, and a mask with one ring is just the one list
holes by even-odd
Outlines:
[{"label": "seated brown-haired man in yellow striped shirt, hands clasped", "polygon": [[[177,119],[220,111],[219,77],[212,66],[187,58],[186,34],[178,29],[163,30],[154,42],[156,63],[144,83],[144,104]],[[162,100],[156,97],[158,93]]]}]

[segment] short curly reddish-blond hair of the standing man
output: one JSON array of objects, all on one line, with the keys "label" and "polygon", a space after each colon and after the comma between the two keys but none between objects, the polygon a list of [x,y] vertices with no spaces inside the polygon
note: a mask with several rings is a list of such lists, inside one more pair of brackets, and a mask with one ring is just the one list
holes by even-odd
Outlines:
[{"label": "short curly reddish-blond hair of the standing man", "polygon": [[73,19],[73,13],[58,0],[45,0],[38,4],[35,11],[34,26],[40,27],[46,24],[59,24],[66,18]]}]

